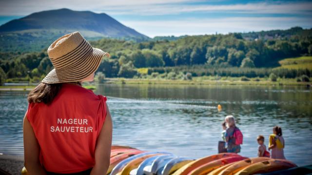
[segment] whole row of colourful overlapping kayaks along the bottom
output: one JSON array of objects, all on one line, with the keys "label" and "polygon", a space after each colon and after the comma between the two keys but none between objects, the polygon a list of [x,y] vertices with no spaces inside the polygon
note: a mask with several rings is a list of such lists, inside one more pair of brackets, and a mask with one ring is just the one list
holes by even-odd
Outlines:
[{"label": "whole row of colourful overlapping kayaks along the bottom", "polygon": [[[253,175],[312,173],[285,159],[242,157],[221,153],[202,158],[178,157],[168,152],[145,152],[127,146],[112,146],[107,175]],[[270,175],[271,175],[270,174]],[[272,175],[277,175],[272,174]]]}]

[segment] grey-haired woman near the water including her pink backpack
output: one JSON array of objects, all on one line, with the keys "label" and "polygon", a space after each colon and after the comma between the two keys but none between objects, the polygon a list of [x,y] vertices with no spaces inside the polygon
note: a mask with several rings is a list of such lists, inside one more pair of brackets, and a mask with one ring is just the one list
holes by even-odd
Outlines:
[{"label": "grey-haired woman near the water including her pink backpack", "polygon": [[235,126],[235,120],[232,115],[225,117],[225,123],[227,126],[225,132],[225,140],[227,142],[227,152],[228,153],[239,153],[240,145],[243,144],[243,134]]}]

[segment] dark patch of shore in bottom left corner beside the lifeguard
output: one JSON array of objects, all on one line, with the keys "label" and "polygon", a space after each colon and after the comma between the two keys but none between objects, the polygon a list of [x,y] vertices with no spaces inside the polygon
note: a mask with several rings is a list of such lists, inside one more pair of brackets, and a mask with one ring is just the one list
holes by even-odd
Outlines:
[{"label": "dark patch of shore in bottom left corner beside the lifeguard", "polygon": [[20,175],[20,171],[23,166],[23,156],[0,155],[0,169],[11,175]]}]

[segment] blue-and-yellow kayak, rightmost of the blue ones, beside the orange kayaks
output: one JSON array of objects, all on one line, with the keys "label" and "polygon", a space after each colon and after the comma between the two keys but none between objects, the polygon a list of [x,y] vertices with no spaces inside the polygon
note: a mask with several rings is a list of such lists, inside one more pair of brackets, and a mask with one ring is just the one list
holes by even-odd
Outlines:
[{"label": "blue-and-yellow kayak, rightmost of the blue ones, beside the orange kayaks", "polygon": [[194,158],[190,157],[176,157],[170,160],[165,166],[163,171],[161,172],[162,175],[171,175],[177,169],[181,168],[187,163],[194,161]]}]

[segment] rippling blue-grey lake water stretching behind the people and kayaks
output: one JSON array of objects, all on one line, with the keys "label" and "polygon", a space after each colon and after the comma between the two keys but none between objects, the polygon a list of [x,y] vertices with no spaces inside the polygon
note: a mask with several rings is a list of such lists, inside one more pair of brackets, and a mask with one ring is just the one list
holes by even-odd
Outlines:
[{"label": "rippling blue-grey lake water stretching behind the people and kayaks", "polygon": [[[236,118],[244,134],[241,155],[257,156],[256,137],[280,125],[285,156],[312,164],[312,90],[304,87],[99,85],[108,96],[113,143],[203,157],[217,153],[221,122]],[[0,91],[0,153],[23,154],[27,92]],[[216,106],[223,106],[221,112]]]}]

